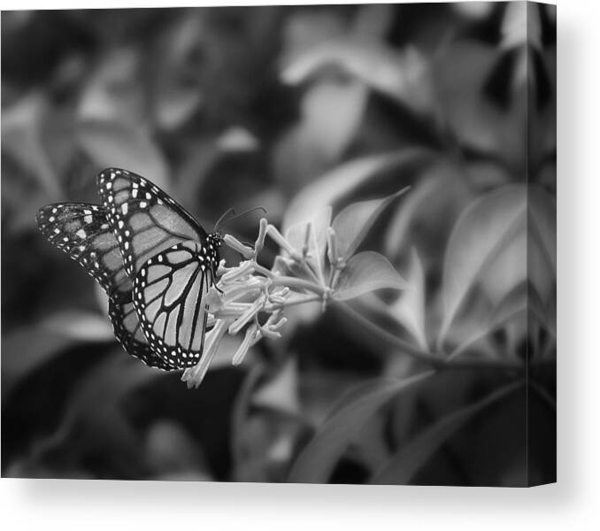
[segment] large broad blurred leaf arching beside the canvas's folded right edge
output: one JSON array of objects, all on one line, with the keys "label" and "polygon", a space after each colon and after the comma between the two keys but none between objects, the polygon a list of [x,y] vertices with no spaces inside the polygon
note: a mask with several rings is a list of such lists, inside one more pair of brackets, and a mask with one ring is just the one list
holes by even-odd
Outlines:
[{"label": "large broad blurred leaf arching beside the canvas's folded right edge", "polygon": [[[444,258],[442,297],[444,315],[438,344],[441,345],[460,306],[486,269],[495,274],[488,286],[500,299],[517,281],[527,276],[525,235],[527,189],[506,186],[481,196],[462,213],[448,242]],[[504,260],[501,253],[508,250]],[[522,252],[522,256],[515,252]],[[502,292],[502,293],[501,293]]]}]

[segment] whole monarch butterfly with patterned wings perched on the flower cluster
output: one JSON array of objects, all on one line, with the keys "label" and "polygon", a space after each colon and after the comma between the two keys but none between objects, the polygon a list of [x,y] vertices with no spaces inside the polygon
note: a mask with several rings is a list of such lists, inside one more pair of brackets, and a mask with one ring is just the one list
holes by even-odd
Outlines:
[{"label": "whole monarch butterfly with patterned wings perched on the flower cluster", "polygon": [[38,227],[104,289],[114,334],[127,351],[164,370],[196,365],[204,349],[205,296],[215,284],[220,222],[206,233],[150,181],[109,168],[98,174],[102,206],[50,204]]}]

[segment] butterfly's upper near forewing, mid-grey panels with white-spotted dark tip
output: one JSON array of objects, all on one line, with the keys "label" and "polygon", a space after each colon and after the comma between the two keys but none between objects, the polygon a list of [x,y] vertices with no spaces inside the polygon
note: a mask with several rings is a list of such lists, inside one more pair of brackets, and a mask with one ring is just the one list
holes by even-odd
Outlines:
[{"label": "butterfly's upper near forewing, mid-grey panels with white-spotted dark tip", "polygon": [[206,232],[179,204],[135,173],[109,168],[98,174],[109,224],[117,236],[127,274],[161,251],[187,240],[200,242]]}]

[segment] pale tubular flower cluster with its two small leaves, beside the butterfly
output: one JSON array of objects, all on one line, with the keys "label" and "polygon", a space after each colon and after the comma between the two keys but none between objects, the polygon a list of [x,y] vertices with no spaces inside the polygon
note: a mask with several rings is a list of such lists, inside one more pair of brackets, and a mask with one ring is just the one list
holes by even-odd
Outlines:
[{"label": "pale tubular flower cluster with its two small leaves, beside the butterfly", "polygon": [[[244,259],[235,267],[221,260],[219,282],[207,296],[211,330],[205,336],[204,355],[185,370],[181,380],[189,388],[200,385],[226,334],[238,335],[245,328],[233,365],[241,364],[262,338],[281,337],[287,322],[284,310],[289,306],[320,302],[325,308],[332,300],[347,300],[373,289],[404,289],[404,280],[386,258],[372,251],[354,254],[389,200],[350,205],[333,224],[327,207],[313,219],[289,227],[285,236],[261,219],[253,248],[225,235],[223,242]],[[258,263],[267,236],[281,249],[271,269]]]}]

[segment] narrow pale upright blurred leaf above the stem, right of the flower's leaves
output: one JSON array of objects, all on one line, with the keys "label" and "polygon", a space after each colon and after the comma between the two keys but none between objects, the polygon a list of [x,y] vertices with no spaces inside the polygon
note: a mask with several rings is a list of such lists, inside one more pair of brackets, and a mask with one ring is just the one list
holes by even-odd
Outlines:
[{"label": "narrow pale upright blurred leaf above the stem, right of the flower's leaves", "polygon": [[414,247],[411,250],[406,281],[410,289],[404,290],[396,302],[389,306],[388,312],[408,330],[421,349],[428,350],[425,331],[425,273]]}]

